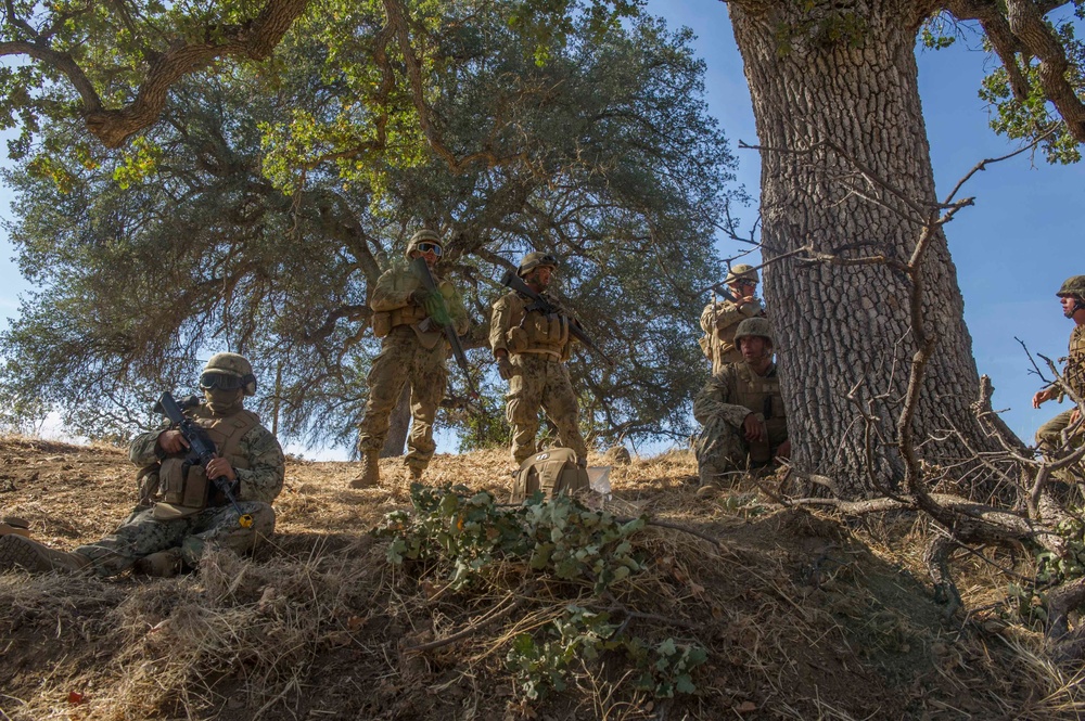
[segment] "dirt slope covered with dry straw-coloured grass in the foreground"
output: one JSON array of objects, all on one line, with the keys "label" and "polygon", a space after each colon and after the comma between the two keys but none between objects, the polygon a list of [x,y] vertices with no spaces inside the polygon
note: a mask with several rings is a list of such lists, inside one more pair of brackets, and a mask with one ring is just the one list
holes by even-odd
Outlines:
[{"label": "dirt slope covered with dry straw-coloured grass in the foreground", "polygon": [[[506,466],[503,452],[443,455],[426,481],[503,499]],[[356,491],[353,464],[292,461],[275,548],[254,559],[212,554],[166,580],[0,576],[0,718],[1077,718],[1073,684],[1029,652],[1034,634],[991,614],[943,619],[904,545],[895,556],[749,490],[698,494],[694,471],[686,453],[615,468],[616,513],[700,536],[640,531],[646,571],[600,600],[523,564],[442,590],[439,568],[393,566],[367,532],[409,507],[400,481]],[[132,478],[116,449],[0,439],[0,515],[59,548],[122,522]],[[573,603],[621,609],[651,643],[706,648],[695,693],[652,697],[603,654],[574,659],[564,691],[525,698],[506,667],[513,639],[541,638]]]}]

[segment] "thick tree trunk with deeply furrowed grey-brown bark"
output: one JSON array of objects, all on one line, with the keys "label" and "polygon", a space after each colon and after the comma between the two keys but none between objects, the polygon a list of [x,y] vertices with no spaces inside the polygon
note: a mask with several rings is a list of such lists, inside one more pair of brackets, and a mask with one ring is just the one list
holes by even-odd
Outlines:
[{"label": "thick tree trunk with deeply furrowed grey-brown bark", "polygon": [[[765,260],[806,245],[815,253],[852,245],[839,255],[907,262],[923,220],[866,182],[853,160],[915,203],[929,208],[936,202],[915,59],[916,34],[932,3],[813,4],[809,11],[802,10],[807,3],[791,0],[728,4],[764,149]],[[884,205],[860,197],[856,189]],[[923,273],[924,317],[939,343],[915,437],[939,439],[928,440],[922,458],[950,462],[962,449],[945,433],[949,428],[978,449],[988,445],[969,409],[979,378],[957,271],[941,233]],[[903,273],[885,266],[791,257],[765,270],[794,462],[800,471],[837,478],[848,497],[869,494],[879,482],[895,485],[903,476],[893,443],[917,348],[911,289]],[[858,404],[847,399],[853,388]],[[877,421],[870,425],[864,414]]]}]

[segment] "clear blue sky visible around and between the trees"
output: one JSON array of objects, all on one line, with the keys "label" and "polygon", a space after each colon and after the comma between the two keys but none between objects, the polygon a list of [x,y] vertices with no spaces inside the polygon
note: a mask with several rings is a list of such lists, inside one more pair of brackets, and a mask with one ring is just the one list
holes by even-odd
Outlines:
[{"label": "clear blue sky visible around and between the trees", "polygon": [[[755,143],[750,93],[726,4],[719,0],[649,0],[648,11],[666,17],[672,27],[694,29],[699,36],[694,50],[707,66],[711,113],[732,144],[739,140]],[[978,48],[979,40],[919,53],[920,91],[940,196],[978,162],[1017,147],[987,127],[988,112],[976,91],[993,61],[968,46]],[[739,181],[756,194],[757,155],[754,151],[736,152]],[[965,295],[965,317],[976,363],[981,373],[993,378],[995,408],[1009,409],[1004,416],[1007,423],[1031,440],[1041,423],[1068,407],[1052,402],[1038,411],[1032,409],[1032,395],[1039,383],[1029,375],[1031,365],[1014,336],[1034,352],[1052,358],[1065,355],[1071,323],[1062,317],[1055,292],[1068,275],[1085,273],[1081,230],[1085,164],[1049,166],[1041,157],[1033,162],[1023,154],[979,173],[963,194],[974,196],[975,206],[959,213],[946,233]],[[10,201],[9,191],[0,188],[0,215],[4,218],[10,217]],[[755,214],[754,207],[745,211],[751,218]],[[719,241],[717,245],[723,256],[739,249],[731,242]],[[11,262],[12,255],[7,234],[0,230],[0,319],[17,313],[17,295],[28,287]],[[690,309],[693,314],[699,311]],[[444,438],[439,445],[438,450],[455,452],[452,439]],[[342,458],[339,451],[318,455]]]}]

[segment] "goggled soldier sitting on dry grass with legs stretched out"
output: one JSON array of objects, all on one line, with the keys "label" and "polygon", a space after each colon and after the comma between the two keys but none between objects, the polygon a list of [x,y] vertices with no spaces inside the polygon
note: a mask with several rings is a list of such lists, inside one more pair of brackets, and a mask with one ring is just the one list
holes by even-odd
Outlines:
[{"label": "goggled soldier sitting on dry grass with legs stretched out", "polygon": [[[0,571],[89,571],[107,577],[135,566],[174,576],[195,567],[208,546],[251,552],[275,531],[271,502],[282,490],[285,460],[275,436],[244,409],[256,392],[253,368],[237,353],[216,353],[200,375],[202,402],[184,410],[217,449],[206,469],[188,458],[188,441],[170,425],[138,436],[128,448],[140,466],[140,503],[112,535],[64,553],[20,536],[0,537]],[[193,399],[194,400],[194,399]],[[238,507],[209,482],[226,477]],[[242,527],[241,515],[252,525]]]}]

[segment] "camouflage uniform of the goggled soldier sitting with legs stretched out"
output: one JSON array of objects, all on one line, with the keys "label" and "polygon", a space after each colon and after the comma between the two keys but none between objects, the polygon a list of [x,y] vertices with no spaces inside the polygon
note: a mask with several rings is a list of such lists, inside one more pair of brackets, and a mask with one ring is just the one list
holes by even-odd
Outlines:
[{"label": "camouflage uniform of the goggled soldier sitting with legs stretched out", "polygon": [[[285,460],[279,441],[250,411],[239,410],[219,416],[206,405],[197,405],[187,410],[186,414],[208,430],[222,458],[230,461],[238,476],[238,505],[242,513],[252,515],[252,527],[242,528],[238,524],[237,511],[217,492],[212,494],[208,507],[193,515],[165,520],[156,518],[153,503],[161,498],[156,492],[159,471],[183,454],[168,456],[157,446],[158,436],[165,428],[145,433],[137,437],[128,449],[132,463],[150,472],[145,474],[141,504],[113,533],[97,543],[75,549],[75,553],[90,558],[91,568],[99,576],[115,576],[140,558],[177,548],[186,563],[196,566],[209,544],[241,554],[252,551],[275,530],[271,502],[282,490],[285,475]],[[232,442],[220,442],[230,435],[231,428],[241,430],[243,435]]]}]

